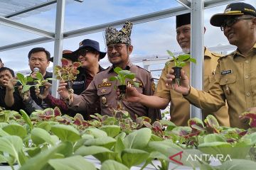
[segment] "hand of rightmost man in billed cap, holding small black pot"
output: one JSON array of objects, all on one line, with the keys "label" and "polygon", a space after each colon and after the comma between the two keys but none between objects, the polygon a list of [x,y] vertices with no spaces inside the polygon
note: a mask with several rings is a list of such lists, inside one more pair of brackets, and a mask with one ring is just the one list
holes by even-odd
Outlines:
[{"label": "hand of rightmost man in billed cap, holding small black pot", "polygon": [[171,69],[169,74],[166,74],[166,86],[171,86],[176,92],[183,94],[184,96],[188,95],[190,92],[190,86],[188,77],[186,76],[183,69],[181,69],[181,79],[179,84],[176,82],[174,83],[175,76],[174,76],[174,69]]}]

